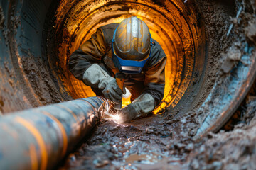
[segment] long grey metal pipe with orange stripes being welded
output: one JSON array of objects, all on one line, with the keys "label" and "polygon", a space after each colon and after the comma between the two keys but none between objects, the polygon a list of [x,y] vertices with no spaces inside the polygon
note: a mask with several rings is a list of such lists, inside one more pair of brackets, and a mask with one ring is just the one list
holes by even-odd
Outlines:
[{"label": "long grey metal pipe with orange stripes being welded", "polygon": [[52,169],[92,130],[105,106],[105,98],[91,97],[4,115],[0,169]]}]

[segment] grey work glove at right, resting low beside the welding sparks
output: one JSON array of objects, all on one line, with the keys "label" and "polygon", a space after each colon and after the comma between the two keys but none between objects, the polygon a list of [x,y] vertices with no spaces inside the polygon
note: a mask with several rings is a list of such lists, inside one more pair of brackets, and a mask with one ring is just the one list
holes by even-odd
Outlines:
[{"label": "grey work glove at right, resting low beside the welding sparks", "polygon": [[154,98],[150,94],[141,94],[131,104],[119,111],[119,123],[127,123],[135,118],[146,116],[154,110]]}]

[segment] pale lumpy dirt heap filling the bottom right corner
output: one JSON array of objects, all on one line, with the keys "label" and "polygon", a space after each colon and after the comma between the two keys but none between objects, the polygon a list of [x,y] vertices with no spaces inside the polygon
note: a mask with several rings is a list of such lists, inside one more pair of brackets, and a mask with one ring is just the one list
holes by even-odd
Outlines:
[{"label": "pale lumpy dirt heap filling the bottom right corner", "polygon": [[209,134],[189,159],[189,169],[255,169],[256,121],[231,132]]}]

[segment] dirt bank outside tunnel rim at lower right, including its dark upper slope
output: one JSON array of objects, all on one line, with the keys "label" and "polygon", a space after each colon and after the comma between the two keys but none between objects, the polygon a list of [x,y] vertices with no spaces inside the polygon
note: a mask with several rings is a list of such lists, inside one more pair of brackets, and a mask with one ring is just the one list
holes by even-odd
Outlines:
[{"label": "dirt bank outside tunnel rim at lower right, including its dark upper slope", "polygon": [[254,83],[230,123],[217,134],[209,133],[200,147],[193,149],[184,169],[256,169],[255,86]]}]

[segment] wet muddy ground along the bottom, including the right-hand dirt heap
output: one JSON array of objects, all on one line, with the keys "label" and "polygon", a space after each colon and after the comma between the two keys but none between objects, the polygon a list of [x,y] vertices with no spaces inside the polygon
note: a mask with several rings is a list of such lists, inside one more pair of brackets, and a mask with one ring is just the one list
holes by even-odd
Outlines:
[{"label": "wet muddy ground along the bottom, including the right-hand dirt heap", "polygon": [[154,115],[125,125],[108,121],[61,169],[255,169],[256,100],[246,108],[233,130],[209,133],[200,142],[182,134],[184,119],[173,123]]}]

